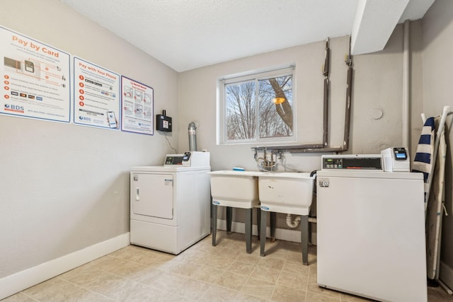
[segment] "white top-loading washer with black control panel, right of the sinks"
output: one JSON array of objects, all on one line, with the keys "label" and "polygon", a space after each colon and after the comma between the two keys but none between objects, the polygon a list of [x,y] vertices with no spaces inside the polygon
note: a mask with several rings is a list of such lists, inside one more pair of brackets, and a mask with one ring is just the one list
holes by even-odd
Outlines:
[{"label": "white top-loading washer with black control panel, right of the sinks", "polygon": [[426,302],[423,174],[384,172],[380,154],[322,161],[319,286],[377,301]]}]

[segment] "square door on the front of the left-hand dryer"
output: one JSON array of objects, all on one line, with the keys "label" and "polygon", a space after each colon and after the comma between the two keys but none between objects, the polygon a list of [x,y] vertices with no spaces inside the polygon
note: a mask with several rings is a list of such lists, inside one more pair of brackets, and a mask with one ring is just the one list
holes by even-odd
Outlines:
[{"label": "square door on the front of the left-hand dryer", "polygon": [[137,215],[173,219],[173,175],[132,175],[132,212]]}]

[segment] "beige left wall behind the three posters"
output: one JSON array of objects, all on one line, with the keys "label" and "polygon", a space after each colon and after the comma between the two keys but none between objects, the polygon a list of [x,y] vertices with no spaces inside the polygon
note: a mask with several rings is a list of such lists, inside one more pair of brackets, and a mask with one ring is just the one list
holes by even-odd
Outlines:
[{"label": "beige left wall behind the three posters", "polygon": [[[0,25],[153,87],[155,112],[178,115],[176,71],[60,1],[3,0]],[[0,279],[129,232],[130,167],[171,152],[159,133],[0,115]]]}]

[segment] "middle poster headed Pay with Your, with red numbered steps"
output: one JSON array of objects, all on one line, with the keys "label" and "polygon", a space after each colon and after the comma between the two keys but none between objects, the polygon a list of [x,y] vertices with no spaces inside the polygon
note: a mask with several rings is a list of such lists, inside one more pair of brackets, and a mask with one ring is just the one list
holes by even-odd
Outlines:
[{"label": "middle poster headed Pay with Your, with red numbered steps", "polygon": [[74,124],[120,129],[120,75],[74,57]]}]

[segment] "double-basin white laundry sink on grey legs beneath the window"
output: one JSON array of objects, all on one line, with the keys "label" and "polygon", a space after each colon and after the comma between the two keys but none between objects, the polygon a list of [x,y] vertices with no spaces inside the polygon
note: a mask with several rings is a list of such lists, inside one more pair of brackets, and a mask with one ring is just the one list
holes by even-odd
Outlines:
[{"label": "double-basin white laundry sink on grey legs beneath the window", "polygon": [[[212,245],[216,245],[217,206],[226,211],[227,231],[231,230],[231,207],[247,209],[246,250],[251,252],[251,210],[260,208],[260,255],[264,256],[267,212],[301,215],[302,262],[308,265],[308,215],[311,207],[314,178],[310,173],[272,173],[259,171],[220,170],[210,172],[212,204]],[[274,225],[274,226],[273,226]],[[271,235],[275,230],[271,215]]]}]

